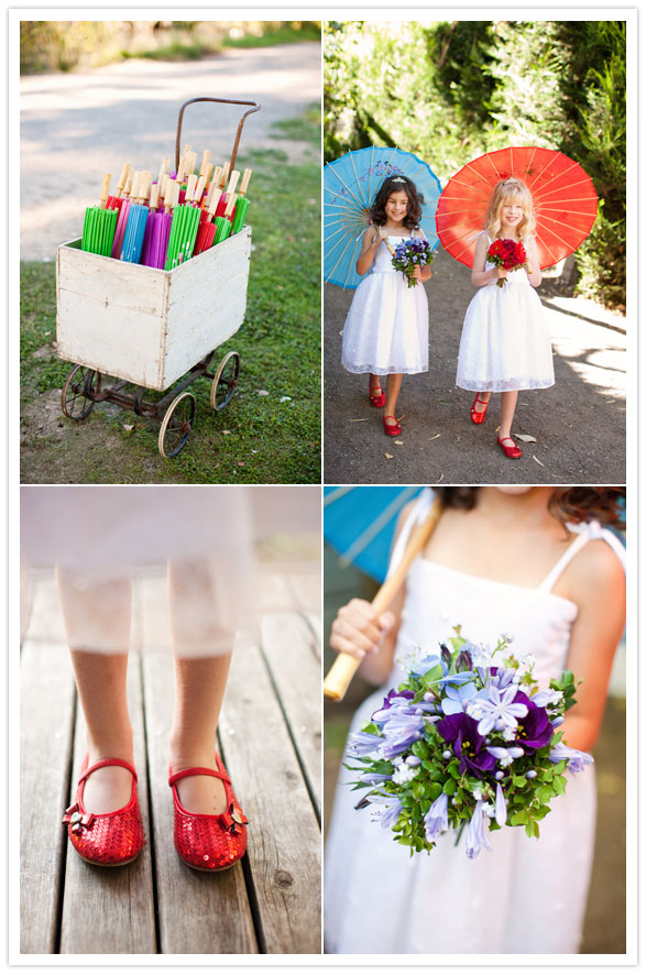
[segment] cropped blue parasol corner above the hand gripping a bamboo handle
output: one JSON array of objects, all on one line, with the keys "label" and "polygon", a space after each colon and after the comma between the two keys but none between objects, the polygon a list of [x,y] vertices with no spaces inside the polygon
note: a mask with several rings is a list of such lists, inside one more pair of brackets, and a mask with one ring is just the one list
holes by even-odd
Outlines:
[{"label": "cropped blue parasol corner above the hand gripping a bamboo handle", "polygon": [[423,490],[324,488],[324,537],[340,552],[341,565],[353,562],[383,582],[398,514]]}]

